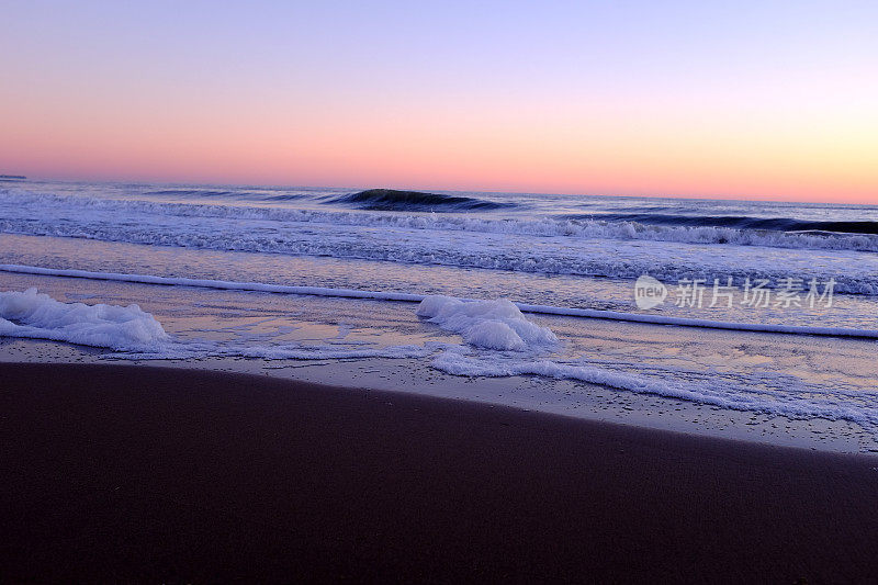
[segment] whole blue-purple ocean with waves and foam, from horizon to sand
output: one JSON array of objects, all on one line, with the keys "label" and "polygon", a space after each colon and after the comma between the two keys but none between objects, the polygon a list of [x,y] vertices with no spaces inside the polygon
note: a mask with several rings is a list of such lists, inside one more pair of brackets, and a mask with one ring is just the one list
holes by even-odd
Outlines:
[{"label": "whole blue-purple ocean with waves and foam, from horizon to sand", "polygon": [[873,205],[7,180],[0,335],[419,360],[875,437],[876,252]]}]

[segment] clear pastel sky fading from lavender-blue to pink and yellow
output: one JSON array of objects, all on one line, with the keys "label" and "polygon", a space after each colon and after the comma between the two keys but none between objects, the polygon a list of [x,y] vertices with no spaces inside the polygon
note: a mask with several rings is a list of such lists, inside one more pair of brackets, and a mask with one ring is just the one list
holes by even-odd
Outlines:
[{"label": "clear pastel sky fading from lavender-blue to pink and yellow", "polygon": [[4,0],[0,173],[878,203],[878,2]]}]

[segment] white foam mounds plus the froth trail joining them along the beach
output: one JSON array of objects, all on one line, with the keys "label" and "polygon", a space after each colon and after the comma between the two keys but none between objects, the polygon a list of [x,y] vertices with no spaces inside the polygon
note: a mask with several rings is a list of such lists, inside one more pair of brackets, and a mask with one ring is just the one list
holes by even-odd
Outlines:
[{"label": "white foam mounds plus the froth trail joining them along the beach", "polygon": [[109,357],[128,360],[431,357],[435,368],[453,375],[570,379],[723,408],[849,420],[873,431],[878,426],[875,391],[868,387],[826,389],[822,378],[808,381],[783,370],[758,370],[742,375],[686,371],[678,365],[655,368],[611,360],[594,364],[584,362],[582,357],[561,359],[559,350],[563,346],[554,334],[529,322],[515,304],[505,300],[427,296],[421,299],[417,313],[447,330],[459,333],[469,346],[351,347],[351,344],[334,342],[305,346],[252,344],[246,339],[183,340],[168,335],[153,315],[137,305],[61,303],[35,289],[0,293],[0,336],[110,348],[116,352]]}]

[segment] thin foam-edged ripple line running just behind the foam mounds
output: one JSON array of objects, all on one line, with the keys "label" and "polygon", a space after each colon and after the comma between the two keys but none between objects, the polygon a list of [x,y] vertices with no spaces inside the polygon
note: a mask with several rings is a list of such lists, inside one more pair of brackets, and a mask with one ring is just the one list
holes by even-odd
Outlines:
[{"label": "thin foam-edged ripple line running just behind the foam mounds", "polygon": [[[20,274],[38,274],[47,277],[67,277],[89,280],[108,280],[115,282],[134,282],[138,284],[160,284],[165,286],[194,286],[200,289],[218,289],[225,291],[252,291],[280,294],[301,294],[309,296],[335,296],[342,299],[367,299],[376,301],[399,301],[419,303],[428,295],[386,291],[362,291],[358,289],[327,289],[322,286],[291,286],[286,284],[266,284],[261,282],[235,282],[226,280],[188,279],[173,277],[154,277],[150,274],[125,274],[119,272],[92,272],[89,270],[42,268],[23,265],[0,265],[0,271]],[[471,301],[471,299],[462,299]],[[642,313],[621,313],[596,308],[574,308],[530,303],[515,303],[525,313],[541,315],[559,315],[567,317],[585,317],[593,319],[643,323],[649,325],[673,325],[677,327],[698,327],[707,329],[727,329],[735,331],[756,331],[787,335],[814,335],[821,337],[856,337],[878,339],[878,329],[848,329],[844,327],[817,327],[809,325],[776,325],[763,323],[736,323],[725,320],[696,319],[687,317],[668,317],[665,315],[646,315]]]}]

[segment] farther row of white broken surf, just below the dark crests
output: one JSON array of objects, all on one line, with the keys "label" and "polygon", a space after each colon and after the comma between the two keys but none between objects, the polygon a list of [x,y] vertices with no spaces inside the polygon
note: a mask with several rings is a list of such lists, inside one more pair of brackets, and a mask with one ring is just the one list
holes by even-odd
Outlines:
[{"label": "farther row of white broken surf, just below the dark crests", "polygon": [[[598,216],[543,216],[543,217],[469,217],[432,213],[362,213],[345,211],[315,211],[307,209],[260,207],[254,205],[225,205],[209,203],[179,203],[143,200],[114,200],[81,195],[30,193],[0,189],[0,205],[15,209],[32,207],[35,217],[45,209],[58,209],[77,221],[77,213],[106,211],[155,214],[160,217],[216,217],[229,220],[260,220],[289,223],[313,223],[340,226],[398,227],[423,230],[470,232],[508,234],[533,237],[572,237],[579,239],[620,239],[671,241],[699,245],[762,246],[789,249],[878,251],[876,234],[801,233],[768,229],[740,229],[735,227],[648,225],[633,221],[607,221]],[[412,210],[409,210],[412,211]],[[38,220],[22,222],[3,220],[0,230],[15,234],[52,235],[53,226],[43,226]],[[64,234],[56,234],[64,235]],[[113,239],[119,241],[117,239]],[[139,241],[136,241],[139,243]],[[234,249],[234,248],[233,248]],[[854,291],[856,292],[856,291]]]}]

